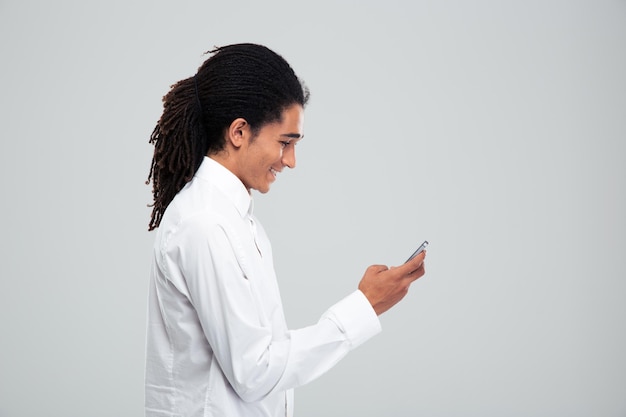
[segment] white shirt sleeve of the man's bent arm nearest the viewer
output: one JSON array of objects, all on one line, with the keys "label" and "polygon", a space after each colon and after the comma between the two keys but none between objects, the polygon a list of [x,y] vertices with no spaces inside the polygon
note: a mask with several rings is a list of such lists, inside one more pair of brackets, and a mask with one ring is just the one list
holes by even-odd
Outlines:
[{"label": "white shirt sleeve of the man's bent arm nearest the viewer", "polygon": [[[360,291],[324,313],[315,325],[277,334],[241,268],[242,242],[224,225],[189,224],[171,257],[180,267],[209,349],[244,401],[295,388],[332,368],[380,331]],[[173,247],[177,245],[174,244]]]}]

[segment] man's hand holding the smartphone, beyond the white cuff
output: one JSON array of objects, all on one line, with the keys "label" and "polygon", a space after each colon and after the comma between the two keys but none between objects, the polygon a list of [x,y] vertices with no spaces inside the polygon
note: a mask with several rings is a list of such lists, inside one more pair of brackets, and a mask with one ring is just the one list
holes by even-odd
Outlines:
[{"label": "man's hand holding the smartphone, beyond the white cuff", "polygon": [[372,265],[367,268],[359,282],[359,290],[376,314],[381,315],[396,305],[408,293],[411,283],[424,275],[425,257],[426,251],[398,267]]}]

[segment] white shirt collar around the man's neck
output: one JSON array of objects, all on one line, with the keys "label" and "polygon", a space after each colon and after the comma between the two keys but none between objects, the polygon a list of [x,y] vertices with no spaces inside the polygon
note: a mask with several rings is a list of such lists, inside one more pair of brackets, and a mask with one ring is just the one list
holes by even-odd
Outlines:
[{"label": "white shirt collar around the man's neck", "polygon": [[254,206],[252,196],[241,180],[228,168],[205,156],[194,176],[215,184],[235,205],[241,217],[252,215]]}]

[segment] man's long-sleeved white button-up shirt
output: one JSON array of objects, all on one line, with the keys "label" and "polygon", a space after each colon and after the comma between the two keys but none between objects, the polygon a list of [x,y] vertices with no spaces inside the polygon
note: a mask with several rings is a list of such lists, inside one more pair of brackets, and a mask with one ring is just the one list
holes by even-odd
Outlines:
[{"label": "man's long-sleeved white button-up shirt", "polygon": [[293,415],[294,387],[377,334],[360,291],[288,330],[272,248],[241,181],[205,157],[156,234],[148,303],[147,417]]}]

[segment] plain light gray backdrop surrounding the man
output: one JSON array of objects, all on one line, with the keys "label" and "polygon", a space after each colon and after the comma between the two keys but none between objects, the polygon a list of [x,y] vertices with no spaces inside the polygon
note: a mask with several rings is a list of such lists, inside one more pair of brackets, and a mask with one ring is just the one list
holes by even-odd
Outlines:
[{"label": "plain light gray backdrop surrounding the man", "polygon": [[0,0],[0,416],[138,416],[152,149],[214,45],[312,91],[256,195],[289,325],[431,242],[296,415],[626,416],[626,2]]}]

